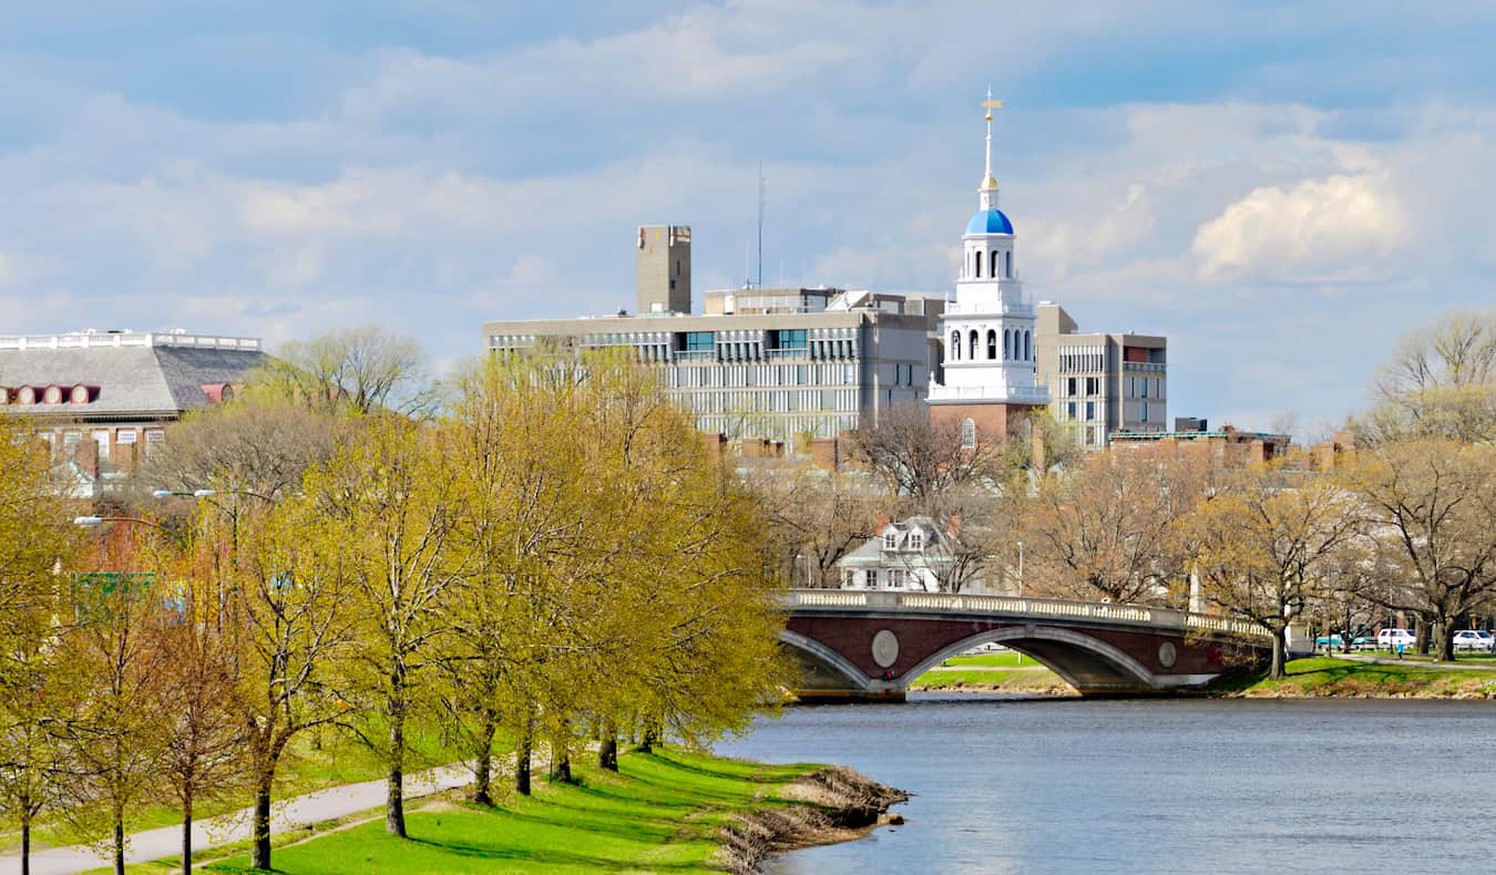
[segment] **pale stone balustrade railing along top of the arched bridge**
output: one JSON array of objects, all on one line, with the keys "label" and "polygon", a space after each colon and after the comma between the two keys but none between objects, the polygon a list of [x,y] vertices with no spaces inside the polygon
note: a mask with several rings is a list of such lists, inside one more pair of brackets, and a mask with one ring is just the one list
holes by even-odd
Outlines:
[{"label": "pale stone balustrade railing along top of the arched bridge", "polygon": [[908,610],[920,613],[986,613],[1035,619],[1091,619],[1177,631],[1200,630],[1243,637],[1269,636],[1266,630],[1255,624],[1227,616],[1188,613],[1143,604],[1071,601],[1067,598],[878,589],[788,589],[782,594],[782,604],[790,610],[797,607],[860,607],[868,610]]}]

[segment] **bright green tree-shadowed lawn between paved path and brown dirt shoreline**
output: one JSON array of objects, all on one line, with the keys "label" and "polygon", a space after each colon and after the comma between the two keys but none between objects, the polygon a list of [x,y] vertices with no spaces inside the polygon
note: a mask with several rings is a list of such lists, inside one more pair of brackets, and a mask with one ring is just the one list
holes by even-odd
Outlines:
[{"label": "bright green tree-shadowed lawn between paved path and brown dirt shoreline", "polygon": [[[779,788],[817,766],[764,766],[660,751],[619,758],[619,773],[577,769],[577,785],[536,784],[497,808],[438,802],[407,815],[408,839],[383,820],[278,848],[275,869],[332,872],[706,872],[733,814],[787,805]],[[209,872],[250,872],[248,857]]]}]

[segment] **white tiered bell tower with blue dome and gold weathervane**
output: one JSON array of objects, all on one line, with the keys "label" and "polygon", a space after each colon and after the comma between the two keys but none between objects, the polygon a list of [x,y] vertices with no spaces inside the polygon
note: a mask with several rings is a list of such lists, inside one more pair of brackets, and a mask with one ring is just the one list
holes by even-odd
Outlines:
[{"label": "white tiered bell tower with blue dome and gold weathervane", "polygon": [[1034,305],[1017,280],[1017,235],[998,208],[992,175],[992,111],[1002,106],[987,93],[987,154],[977,212],[962,235],[956,301],[939,322],[941,366],[929,390],[931,416],[956,419],[963,438],[1002,440],[1016,416],[1049,402],[1034,383]]}]

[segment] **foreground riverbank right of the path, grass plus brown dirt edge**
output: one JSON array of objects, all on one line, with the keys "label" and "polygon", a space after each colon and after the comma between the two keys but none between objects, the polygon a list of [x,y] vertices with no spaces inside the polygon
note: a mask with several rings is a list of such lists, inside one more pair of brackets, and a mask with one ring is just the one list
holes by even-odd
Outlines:
[{"label": "foreground riverbank right of the path, grass plus brown dirt edge", "polygon": [[[904,797],[848,769],[770,766],[676,749],[619,757],[619,772],[574,767],[576,784],[537,781],[494,808],[443,794],[407,812],[408,841],[380,812],[275,850],[280,872],[747,871],[763,854],[856,838]],[[848,832],[851,830],[851,832]],[[165,872],[166,863],[136,872]],[[251,872],[248,857],[206,865]]]}]

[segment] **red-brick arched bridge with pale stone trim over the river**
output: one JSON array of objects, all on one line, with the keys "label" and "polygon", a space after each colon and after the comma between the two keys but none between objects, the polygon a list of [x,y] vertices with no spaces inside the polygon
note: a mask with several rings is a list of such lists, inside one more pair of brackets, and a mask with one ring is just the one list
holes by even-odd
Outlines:
[{"label": "red-brick arched bridge with pale stone trim over the river", "polygon": [[1204,687],[1270,654],[1252,624],[1134,604],[859,589],[791,589],[781,640],[802,699],[893,699],[941,660],[1001,643],[1083,696]]}]

